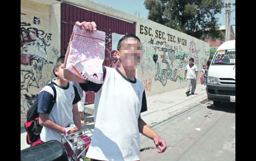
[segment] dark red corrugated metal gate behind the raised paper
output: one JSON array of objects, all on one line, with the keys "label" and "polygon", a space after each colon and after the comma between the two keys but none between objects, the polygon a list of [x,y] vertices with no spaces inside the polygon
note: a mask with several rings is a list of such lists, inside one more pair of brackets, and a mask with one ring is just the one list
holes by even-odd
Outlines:
[{"label": "dark red corrugated metal gate behind the raised paper", "polygon": [[[113,59],[110,56],[112,46],[112,33],[116,34],[135,34],[135,24],[110,16],[85,10],[83,8],[62,3],[61,4],[61,55],[64,55],[64,46],[69,42],[73,26],[76,21],[92,22],[97,24],[97,30],[106,33],[106,50],[103,66],[111,66]],[[94,103],[94,92],[86,92],[85,104]]]}]

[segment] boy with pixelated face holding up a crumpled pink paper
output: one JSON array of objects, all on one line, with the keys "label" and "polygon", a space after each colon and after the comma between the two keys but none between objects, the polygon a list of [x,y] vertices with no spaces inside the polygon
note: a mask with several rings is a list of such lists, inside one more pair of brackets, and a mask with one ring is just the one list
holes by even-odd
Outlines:
[{"label": "boy with pixelated face holding up a crumpled pink paper", "polygon": [[[96,31],[94,22],[76,22],[86,32]],[[70,42],[74,33],[72,33]],[[65,55],[65,68],[70,46]],[[103,66],[103,84],[86,81],[64,69],[66,79],[80,83],[84,91],[94,91],[94,132],[86,157],[94,160],[140,160],[140,135],[152,139],[159,149],[166,150],[166,141],[140,117],[147,111],[145,88],[133,75],[143,56],[141,42],[135,35],[126,35],[118,42],[118,68]],[[121,90],[121,92],[120,92]]]}]

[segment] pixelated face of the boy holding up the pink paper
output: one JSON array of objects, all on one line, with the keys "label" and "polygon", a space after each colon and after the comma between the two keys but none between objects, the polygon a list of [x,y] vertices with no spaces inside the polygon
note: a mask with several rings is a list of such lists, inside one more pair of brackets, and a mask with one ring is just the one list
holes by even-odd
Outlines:
[{"label": "pixelated face of the boy holding up the pink paper", "polygon": [[136,69],[140,65],[143,49],[140,41],[135,38],[123,40],[120,49],[120,59],[127,69]]}]

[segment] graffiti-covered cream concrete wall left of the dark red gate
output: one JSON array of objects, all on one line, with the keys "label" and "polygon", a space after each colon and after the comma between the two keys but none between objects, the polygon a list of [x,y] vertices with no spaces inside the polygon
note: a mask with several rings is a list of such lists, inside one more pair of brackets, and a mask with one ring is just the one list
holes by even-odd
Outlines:
[{"label": "graffiti-covered cream concrete wall left of the dark red gate", "polygon": [[60,55],[60,4],[21,0],[21,127]]}]

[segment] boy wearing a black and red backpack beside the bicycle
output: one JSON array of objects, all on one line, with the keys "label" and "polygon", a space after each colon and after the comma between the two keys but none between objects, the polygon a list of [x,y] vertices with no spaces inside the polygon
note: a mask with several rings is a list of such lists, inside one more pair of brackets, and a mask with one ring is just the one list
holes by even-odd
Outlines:
[{"label": "boy wearing a black and red backpack beside the bicycle", "polygon": [[[39,124],[43,126],[41,140],[38,143],[49,140],[61,141],[62,133],[65,132],[67,135],[81,130],[77,107],[80,96],[76,87],[64,78],[63,70],[64,57],[61,56],[57,59],[54,69],[57,78],[51,82],[56,89],[56,103],[52,105],[55,92],[50,86],[45,86],[38,95]],[[72,121],[76,126],[69,127]]]}]

